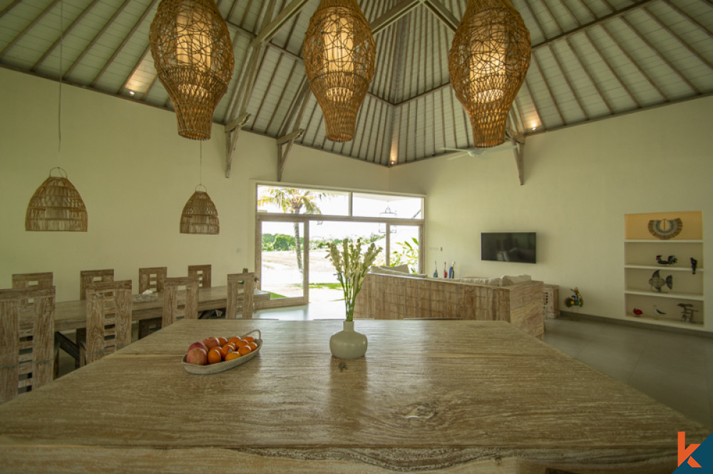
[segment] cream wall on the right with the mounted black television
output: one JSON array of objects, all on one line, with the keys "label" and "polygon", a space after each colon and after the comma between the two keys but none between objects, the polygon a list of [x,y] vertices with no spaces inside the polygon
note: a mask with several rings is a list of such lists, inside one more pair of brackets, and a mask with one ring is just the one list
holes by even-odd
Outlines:
[{"label": "cream wall on the right with the mounted black television", "polygon": [[[712,121],[713,98],[658,107],[529,137],[523,186],[504,150],[395,167],[391,190],[428,196],[428,273],[434,260],[455,260],[461,276],[528,273],[560,285],[560,305],[577,286],[580,312],[623,317],[625,214],[703,211],[704,260],[713,262]],[[538,263],[481,261],[486,231],[537,232]],[[713,295],[709,275],[704,293]]]}]

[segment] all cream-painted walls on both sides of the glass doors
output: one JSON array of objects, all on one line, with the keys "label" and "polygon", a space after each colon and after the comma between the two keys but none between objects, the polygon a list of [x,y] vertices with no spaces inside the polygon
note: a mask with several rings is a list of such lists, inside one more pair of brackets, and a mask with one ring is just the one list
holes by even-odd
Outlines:
[{"label": "all cream-painted walls on both sides of the glass doors", "polygon": [[[27,203],[57,165],[56,82],[0,68],[0,288],[13,273],[53,271],[58,300],[75,299],[79,271],[114,268],[137,285],[138,268],[253,268],[255,181],[277,179],[275,140],[241,132],[230,179],[224,133],[203,142],[202,181],[220,216],[218,236],[178,232],[199,178],[199,144],[178,136],[175,115],[80,88],[63,88],[61,166],[81,192],[88,233],[24,231]],[[283,182],[426,194],[426,271],[456,261],[456,275],[530,273],[578,286],[581,312],[624,313],[624,215],[703,211],[704,260],[713,262],[709,124],[713,98],[529,137],[525,185],[512,150],[446,157],[393,169],[295,146]],[[536,231],[535,265],[481,262],[482,231]],[[430,250],[441,248],[443,251]],[[705,295],[713,294],[706,278]],[[713,303],[706,307],[713,330]]]}]

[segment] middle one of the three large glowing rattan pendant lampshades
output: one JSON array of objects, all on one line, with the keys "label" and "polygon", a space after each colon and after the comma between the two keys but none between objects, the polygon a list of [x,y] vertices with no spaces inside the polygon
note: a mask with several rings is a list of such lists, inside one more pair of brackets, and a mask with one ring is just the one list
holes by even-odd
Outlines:
[{"label": "middle one of the three large glowing rattan pendant lampshades", "polygon": [[322,0],[302,46],[309,88],[333,142],[354,138],[356,113],[374,78],[376,47],[355,0]]}]

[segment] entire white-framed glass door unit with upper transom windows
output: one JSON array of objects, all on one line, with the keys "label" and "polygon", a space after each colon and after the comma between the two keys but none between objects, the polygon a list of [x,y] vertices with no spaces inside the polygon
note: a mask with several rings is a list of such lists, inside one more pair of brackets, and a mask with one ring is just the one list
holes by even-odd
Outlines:
[{"label": "entire white-framed glass door unit with upper transom windows", "polygon": [[255,268],[266,307],[342,300],[329,243],[381,248],[375,265],[423,273],[423,196],[257,185]]}]

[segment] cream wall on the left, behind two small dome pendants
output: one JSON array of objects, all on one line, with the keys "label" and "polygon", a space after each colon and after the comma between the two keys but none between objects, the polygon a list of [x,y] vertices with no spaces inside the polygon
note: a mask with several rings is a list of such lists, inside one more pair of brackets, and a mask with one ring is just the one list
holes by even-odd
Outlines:
[{"label": "cream wall on the left, behind two small dome pendants", "polygon": [[[217,207],[220,234],[179,233],[180,214],[199,184],[200,142],[178,135],[173,112],[64,85],[61,167],[87,206],[89,230],[26,232],[27,204],[58,165],[58,84],[0,68],[0,288],[13,273],[54,272],[58,301],[79,295],[80,270],[212,264],[214,285],[255,266],[255,181],[277,179],[275,140],[241,132],[230,179],[225,134],[202,142],[202,183]],[[294,147],[283,181],[388,189],[383,167]]]}]

